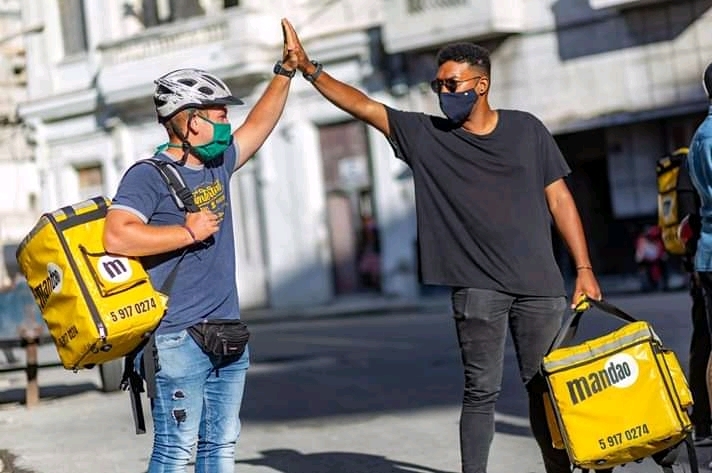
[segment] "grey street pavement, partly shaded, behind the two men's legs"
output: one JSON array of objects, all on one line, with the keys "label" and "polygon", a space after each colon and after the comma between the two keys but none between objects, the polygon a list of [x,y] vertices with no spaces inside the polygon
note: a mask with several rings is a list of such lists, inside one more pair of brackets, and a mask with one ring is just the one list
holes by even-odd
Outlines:
[{"label": "grey street pavement, partly shaded, behind the two men's legs", "polygon": [[[686,292],[610,300],[649,320],[686,365]],[[253,362],[235,471],[457,473],[462,386],[447,300],[332,312],[291,321],[266,312],[245,314]],[[592,314],[579,336],[600,335],[617,325]],[[41,347],[40,358],[56,360],[54,348]],[[505,363],[488,471],[543,472],[511,344]],[[146,471],[151,436],[135,435],[127,393],[102,393],[96,370],[43,368],[39,382],[41,402],[28,409],[24,374],[0,373],[0,460],[5,460],[0,473]],[[712,447],[697,452],[701,471],[709,471]],[[684,458],[676,469],[690,471]],[[616,470],[660,468],[644,460]]]}]

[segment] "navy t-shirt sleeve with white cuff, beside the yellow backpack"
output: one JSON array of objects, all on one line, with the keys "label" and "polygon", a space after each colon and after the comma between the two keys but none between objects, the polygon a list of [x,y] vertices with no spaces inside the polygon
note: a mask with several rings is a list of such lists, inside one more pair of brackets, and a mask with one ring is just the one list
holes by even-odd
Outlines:
[{"label": "navy t-shirt sleeve with white cuff, beside the yellow backpack", "polygon": [[165,184],[158,170],[148,164],[137,164],[126,171],[119,182],[110,209],[120,209],[131,212],[148,223],[149,217],[155,212],[161,196],[160,189]]}]

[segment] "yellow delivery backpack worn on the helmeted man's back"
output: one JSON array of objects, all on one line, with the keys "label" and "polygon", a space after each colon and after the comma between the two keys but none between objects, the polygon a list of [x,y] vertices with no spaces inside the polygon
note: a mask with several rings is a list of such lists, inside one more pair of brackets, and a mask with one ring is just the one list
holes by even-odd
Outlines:
[{"label": "yellow delivery backpack worn on the helmeted man's back", "polygon": [[97,197],[46,213],[17,249],[20,271],[67,369],[128,354],[166,310],[167,297],[138,259],[104,251],[108,205]]}]

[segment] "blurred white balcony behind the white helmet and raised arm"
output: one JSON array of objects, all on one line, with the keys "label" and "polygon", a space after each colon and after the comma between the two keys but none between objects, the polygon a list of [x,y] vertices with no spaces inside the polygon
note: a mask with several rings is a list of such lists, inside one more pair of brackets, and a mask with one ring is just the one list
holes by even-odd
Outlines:
[{"label": "blurred white balcony behind the white helmet and raised arm", "polygon": [[252,76],[269,71],[279,53],[277,21],[236,11],[161,25],[99,45],[97,84],[102,99],[116,103],[140,98],[156,77],[181,67],[250,82]]}]

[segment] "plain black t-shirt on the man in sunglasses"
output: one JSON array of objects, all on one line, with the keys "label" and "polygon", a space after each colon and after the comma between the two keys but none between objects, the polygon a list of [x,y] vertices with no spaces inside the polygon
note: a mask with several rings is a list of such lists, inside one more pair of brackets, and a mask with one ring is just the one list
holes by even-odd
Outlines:
[{"label": "plain black t-shirt on the man in sunglasses", "polygon": [[562,296],[544,188],[570,169],[543,123],[499,110],[474,135],[447,120],[388,108],[396,155],[413,171],[425,284]]}]

